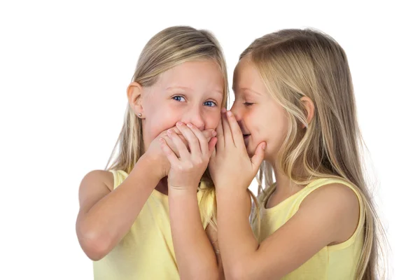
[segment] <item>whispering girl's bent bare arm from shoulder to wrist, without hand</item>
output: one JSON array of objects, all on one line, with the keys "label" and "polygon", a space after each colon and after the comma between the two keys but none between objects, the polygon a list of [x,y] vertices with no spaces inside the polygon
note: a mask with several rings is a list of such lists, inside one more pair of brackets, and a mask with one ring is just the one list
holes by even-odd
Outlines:
[{"label": "whispering girl's bent bare arm from shoulder to wrist, without hand", "polygon": [[341,243],[358,225],[358,199],[339,184],[323,186],[260,246],[248,222],[248,194],[218,193],[218,237],[228,279],[279,279],[324,246]]}]

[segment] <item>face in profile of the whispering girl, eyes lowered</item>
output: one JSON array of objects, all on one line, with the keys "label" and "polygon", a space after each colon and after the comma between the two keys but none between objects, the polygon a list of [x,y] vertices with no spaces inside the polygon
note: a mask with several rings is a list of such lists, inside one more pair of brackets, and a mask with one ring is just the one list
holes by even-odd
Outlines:
[{"label": "face in profile of the whispering girl, eyes lowered", "polygon": [[244,134],[248,155],[254,155],[258,144],[265,141],[265,160],[274,164],[288,130],[286,111],[267,92],[249,57],[242,58],[236,66],[233,90],[235,102],[231,111]]}]

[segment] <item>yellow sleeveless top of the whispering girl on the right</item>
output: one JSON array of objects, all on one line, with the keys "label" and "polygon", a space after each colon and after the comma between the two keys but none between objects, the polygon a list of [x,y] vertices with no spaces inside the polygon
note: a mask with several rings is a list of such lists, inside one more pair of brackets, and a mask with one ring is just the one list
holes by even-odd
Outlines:
[{"label": "yellow sleeveless top of the whispering girl on the right", "polygon": [[[363,201],[358,190],[346,181],[339,179],[317,179],[275,207],[265,209],[265,202],[262,202],[260,204],[260,240],[262,241],[269,237],[269,235],[272,235],[278,228],[292,218],[307,195],[317,188],[331,183],[341,183],[356,193],[360,207],[360,216],[356,231],[348,240],[341,244],[325,246],[316,255],[307,260],[307,262],[304,262],[303,265],[286,276],[283,276],[281,279],[346,280],[356,278],[356,265],[362,252],[364,240],[363,225],[365,223],[365,207],[363,206]],[[253,223],[253,231],[255,233],[257,232],[257,226],[256,222]]]}]

